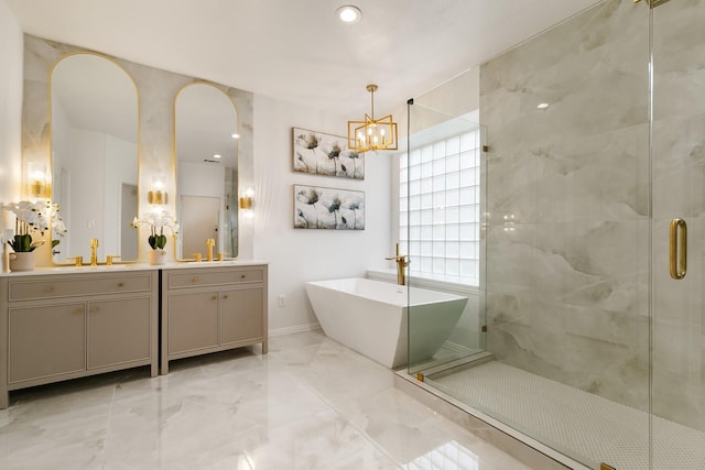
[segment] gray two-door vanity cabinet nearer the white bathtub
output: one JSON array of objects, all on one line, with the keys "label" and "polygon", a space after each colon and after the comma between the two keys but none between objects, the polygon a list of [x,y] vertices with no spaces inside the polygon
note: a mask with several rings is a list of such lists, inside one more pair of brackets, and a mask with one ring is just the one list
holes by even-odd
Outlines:
[{"label": "gray two-door vanity cabinet nearer the white bathtub", "polygon": [[267,353],[267,267],[163,271],[162,374],[173,359],[257,343]]}]

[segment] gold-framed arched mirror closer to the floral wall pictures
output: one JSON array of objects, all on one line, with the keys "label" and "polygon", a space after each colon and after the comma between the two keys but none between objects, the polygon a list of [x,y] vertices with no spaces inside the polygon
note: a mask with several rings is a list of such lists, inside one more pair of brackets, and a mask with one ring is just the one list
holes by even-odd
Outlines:
[{"label": "gold-framed arched mirror closer to the floral wall pictures", "polygon": [[177,220],[176,256],[238,255],[237,111],[230,98],[207,84],[184,87],[175,102]]}]

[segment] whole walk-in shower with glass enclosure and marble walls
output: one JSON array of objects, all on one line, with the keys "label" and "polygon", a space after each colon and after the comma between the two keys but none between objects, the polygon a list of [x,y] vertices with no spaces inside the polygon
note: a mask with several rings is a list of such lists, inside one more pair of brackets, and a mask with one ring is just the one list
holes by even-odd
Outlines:
[{"label": "whole walk-in shower with glass enclosure and marble walls", "polygon": [[587,468],[705,468],[703,24],[605,0],[410,101],[409,284],[469,300],[409,373]]}]

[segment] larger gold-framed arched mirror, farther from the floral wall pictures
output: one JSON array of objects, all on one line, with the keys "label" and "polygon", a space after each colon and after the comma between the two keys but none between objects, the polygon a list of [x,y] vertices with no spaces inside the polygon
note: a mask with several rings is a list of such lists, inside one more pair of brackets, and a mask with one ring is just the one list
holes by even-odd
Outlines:
[{"label": "larger gold-framed arched mirror, farther from the floral wall pictures", "polygon": [[51,77],[52,198],[67,232],[54,247],[56,263],[69,256],[139,256],[138,92],[132,78],[97,54],[68,55]]}]

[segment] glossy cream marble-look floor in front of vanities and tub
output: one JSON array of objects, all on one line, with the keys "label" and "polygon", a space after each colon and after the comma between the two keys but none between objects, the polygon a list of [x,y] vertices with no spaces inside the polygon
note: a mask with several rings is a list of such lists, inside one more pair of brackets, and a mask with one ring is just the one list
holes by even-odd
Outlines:
[{"label": "glossy cream marble-look floor in front of vanities and tub", "polygon": [[322,332],[258,350],[13,392],[0,469],[528,469]]}]

